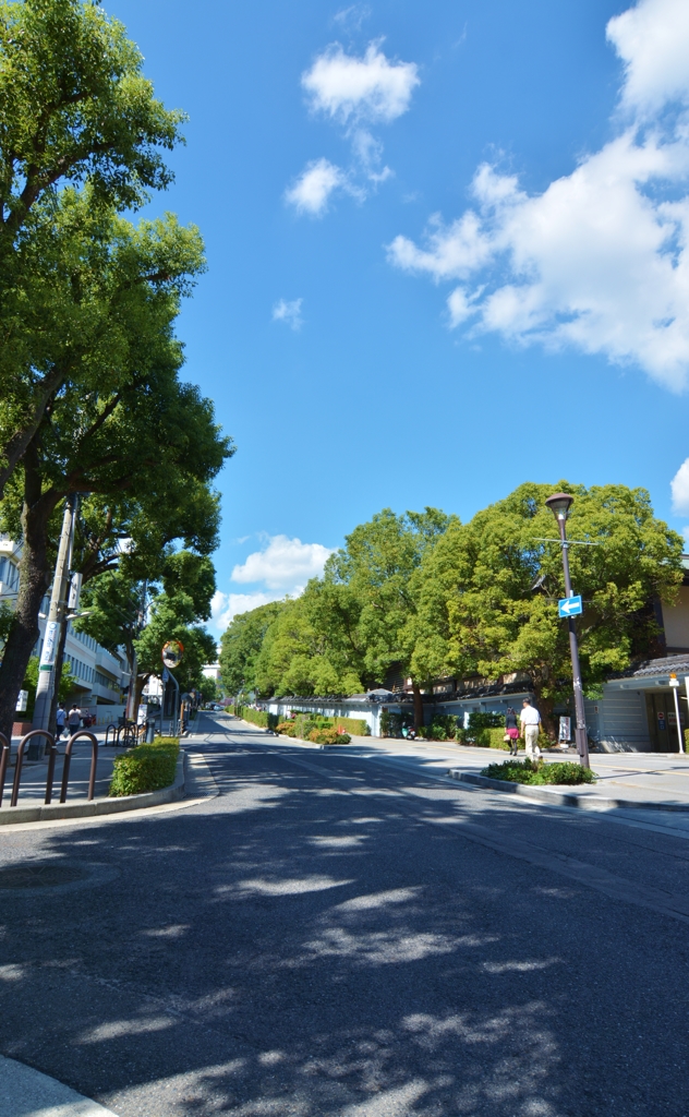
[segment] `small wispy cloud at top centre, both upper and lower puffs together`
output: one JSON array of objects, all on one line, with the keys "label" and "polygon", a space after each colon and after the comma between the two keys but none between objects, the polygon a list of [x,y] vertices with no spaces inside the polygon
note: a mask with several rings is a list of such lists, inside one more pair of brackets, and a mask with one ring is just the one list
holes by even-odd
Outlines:
[{"label": "small wispy cloud at top centre, both upper and lower puffs together", "polygon": [[336,191],[363,201],[390,178],[383,145],[371,128],[402,116],[419,82],[417,64],[391,61],[381,41],[371,42],[362,57],[347,54],[338,42],[327,47],[302,75],[302,87],[312,112],[344,130],[353,162],[347,170],[327,159],[307,163],[286,191],[286,201],[299,213],[322,217]]}]

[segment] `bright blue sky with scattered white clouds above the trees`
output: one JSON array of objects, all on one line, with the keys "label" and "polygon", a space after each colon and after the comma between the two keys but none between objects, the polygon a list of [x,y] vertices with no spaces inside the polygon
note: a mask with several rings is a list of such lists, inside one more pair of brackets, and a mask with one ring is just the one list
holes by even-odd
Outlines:
[{"label": "bright blue sky with scattered white clouds above the trees", "polygon": [[689,523],[686,0],[105,7],[190,115],[151,208],[208,248],[217,631],[385,506],[567,478]]}]

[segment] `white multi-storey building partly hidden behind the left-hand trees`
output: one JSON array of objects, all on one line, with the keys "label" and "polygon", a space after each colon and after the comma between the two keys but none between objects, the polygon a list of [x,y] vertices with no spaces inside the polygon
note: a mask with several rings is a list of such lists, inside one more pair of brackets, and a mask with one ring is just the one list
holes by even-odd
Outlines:
[{"label": "white multi-storey building partly hidden behind the left-hand trees", "polygon": [[[7,535],[0,535],[0,602],[6,601],[12,608],[17,603],[19,591],[18,564],[21,557],[21,544]],[[44,598],[38,624],[40,636],[34,653],[40,656],[46,632],[46,620],[50,605],[50,596]],[[113,656],[102,648],[93,637],[76,632],[68,622],[65,643],[65,666],[75,677],[75,688],[70,701],[76,701],[82,709],[94,713],[97,706],[123,707],[123,687],[130,682],[130,674],[124,651]],[[103,712],[106,713],[105,710]],[[115,716],[115,710],[111,710]],[[98,718],[101,720],[101,718]]]}]

